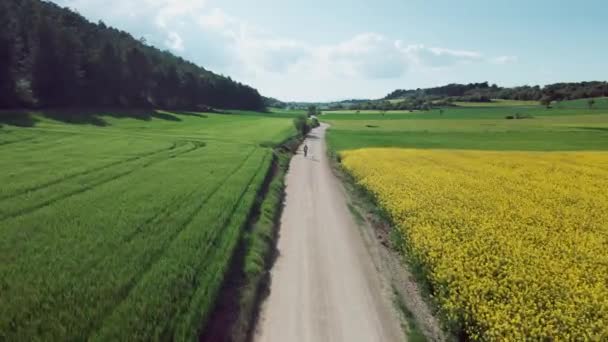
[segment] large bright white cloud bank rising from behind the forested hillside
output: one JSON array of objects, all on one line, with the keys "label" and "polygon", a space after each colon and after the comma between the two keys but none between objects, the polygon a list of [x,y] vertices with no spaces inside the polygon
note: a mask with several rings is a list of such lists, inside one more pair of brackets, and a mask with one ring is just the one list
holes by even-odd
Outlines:
[{"label": "large bright white cloud bank rising from behind the forested hillside", "polygon": [[[370,84],[378,92],[403,86],[405,75],[424,80],[435,75],[439,80],[434,82],[443,82],[448,69],[462,71],[473,63],[490,66],[517,61],[515,56],[407,44],[373,32],[316,45],[267,32],[209,6],[208,0],[54,1],[91,20],[102,19],[136,37],[144,36],[209,70],[260,87],[264,94],[285,99],[337,96],[327,93],[362,96],[355,91],[369,90]],[[294,93],[298,96],[285,95]]]}]

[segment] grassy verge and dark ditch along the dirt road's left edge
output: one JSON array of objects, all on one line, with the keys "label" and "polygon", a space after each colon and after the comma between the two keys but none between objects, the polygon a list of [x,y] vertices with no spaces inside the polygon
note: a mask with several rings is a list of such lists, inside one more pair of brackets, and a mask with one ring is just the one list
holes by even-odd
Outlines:
[{"label": "grassy verge and dark ditch along the dirt road's left edge", "polygon": [[[294,125],[297,126],[295,122]],[[251,340],[260,304],[269,291],[270,269],[276,257],[276,239],[283,209],[285,176],[291,157],[306,133],[305,129],[274,145],[271,166],[251,208],[220,298],[200,340]]]}]

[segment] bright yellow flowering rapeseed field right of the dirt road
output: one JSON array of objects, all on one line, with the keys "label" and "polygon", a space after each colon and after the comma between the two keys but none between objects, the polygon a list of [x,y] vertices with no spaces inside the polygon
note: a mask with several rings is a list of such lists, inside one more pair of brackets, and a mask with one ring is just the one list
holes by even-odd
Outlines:
[{"label": "bright yellow flowering rapeseed field right of the dirt road", "polygon": [[344,166],[475,340],[608,340],[608,153],[362,149]]}]

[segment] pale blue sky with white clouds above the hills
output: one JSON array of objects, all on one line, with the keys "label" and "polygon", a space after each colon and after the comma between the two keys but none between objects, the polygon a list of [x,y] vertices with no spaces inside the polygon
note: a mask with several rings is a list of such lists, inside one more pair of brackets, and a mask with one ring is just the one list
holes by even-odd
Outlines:
[{"label": "pale blue sky with white clouds above the hills", "polygon": [[605,0],[53,0],[283,101],[608,79]]}]

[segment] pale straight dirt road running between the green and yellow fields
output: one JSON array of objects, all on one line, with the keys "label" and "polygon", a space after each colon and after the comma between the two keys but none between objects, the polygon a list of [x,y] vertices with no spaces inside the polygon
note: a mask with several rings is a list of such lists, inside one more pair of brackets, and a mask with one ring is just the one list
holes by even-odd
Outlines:
[{"label": "pale straight dirt road running between the green and yellow fields", "polygon": [[325,154],[319,127],[287,175],[279,256],[255,341],[405,339]]}]

